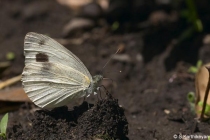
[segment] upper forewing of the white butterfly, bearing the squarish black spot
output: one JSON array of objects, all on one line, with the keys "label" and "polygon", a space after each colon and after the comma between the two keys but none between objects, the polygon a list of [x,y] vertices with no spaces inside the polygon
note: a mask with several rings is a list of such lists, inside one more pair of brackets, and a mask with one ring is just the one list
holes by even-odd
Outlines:
[{"label": "upper forewing of the white butterfly, bearing the squarish black spot", "polygon": [[80,71],[92,80],[92,76],[82,63],[71,51],[48,36],[30,32],[24,41],[25,64],[35,62],[50,62],[63,64]]}]

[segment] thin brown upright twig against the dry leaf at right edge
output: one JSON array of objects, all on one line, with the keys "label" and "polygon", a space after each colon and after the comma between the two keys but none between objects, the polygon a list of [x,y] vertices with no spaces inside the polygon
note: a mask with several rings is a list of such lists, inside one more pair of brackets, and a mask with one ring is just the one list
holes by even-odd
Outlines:
[{"label": "thin brown upright twig against the dry leaf at right edge", "polygon": [[206,102],[207,102],[208,95],[209,95],[209,90],[210,90],[210,67],[209,66],[206,66],[206,69],[209,72],[209,80],[208,80],[208,84],[207,84],[207,87],[206,87],[206,92],[205,92],[204,102],[203,102],[203,108],[202,108],[202,112],[201,112],[201,116],[200,116],[200,120],[201,121],[204,121],[205,120],[204,113],[205,113]]}]

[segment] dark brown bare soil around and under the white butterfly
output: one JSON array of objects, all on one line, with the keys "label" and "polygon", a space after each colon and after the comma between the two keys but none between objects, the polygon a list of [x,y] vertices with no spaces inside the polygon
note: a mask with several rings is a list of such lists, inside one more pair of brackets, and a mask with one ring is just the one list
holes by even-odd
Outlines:
[{"label": "dark brown bare soil around and under the white butterfly", "polygon": [[[77,55],[93,75],[99,74],[110,56],[123,46],[120,54],[128,55],[130,60],[111,60],[104,69],[104,77],[111,78],[113,86],[107,81],[102,84],[113,98],[105,97],[102,92],[100,100],[97,96],[86,99],[89,107],[87,102],[81,103],[82,99],[78,99],[74,108],[75,104],[70,103],[68,108],[51,111],[35,111],[34,105],[25,103],[9,112],[8,139],[173,140],[174,135],[210,135],[210,121],[198,122],[186,98],[189,91],[195,91],[194,75],[188,73],[188,68],[198,59],[209,62],[210,46],[202,44],[208,33],[209,18],[205,14],[209,11],[208,4],[205,0],[198,4],[198,9],[204,11],[201,19],[206,30],[194,32],[181,41],[175,39],[189,23],[178,18],[174,22],[135,29],[133,23],[142,22],[145,16],[140,21],[127,19],[131,21],[130,26],[118,16],[124,26],[116,31],[98,25],[66,37],[81,41],[70,42],[65,47]],[[159,9],[170,13],[171,8],[148,2],[141,13],[146,11],[148,15]],[[48,0],[1,1],[0,9],[0,60],[6,60],[7,52],[15,53],[12,66],[1,74],[3,80],[22,72],[23,40],[27,32],[62,38],[64,26],[74,18],[70,9]],[[113,18],[117,17],[108,19]]]}]

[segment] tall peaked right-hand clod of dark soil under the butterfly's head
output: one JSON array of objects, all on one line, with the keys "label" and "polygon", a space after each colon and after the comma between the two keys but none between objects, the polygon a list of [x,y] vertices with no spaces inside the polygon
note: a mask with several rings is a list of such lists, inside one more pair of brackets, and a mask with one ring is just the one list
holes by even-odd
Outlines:
[{"label": "tall peaked right-hand clod of dark soil under the butterfly's head", "polygon": [[79,119],[75,129],[78,138],[127,139],[128,122],[124,110],[109,94]]}]

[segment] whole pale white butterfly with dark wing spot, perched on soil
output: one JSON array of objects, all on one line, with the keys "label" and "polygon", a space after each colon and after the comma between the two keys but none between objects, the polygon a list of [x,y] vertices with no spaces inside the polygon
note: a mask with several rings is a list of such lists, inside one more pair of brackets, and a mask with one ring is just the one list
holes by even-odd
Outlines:
[{"label": "whole pale white butterfly with dark wing spot, perched on soil", "polygon": [[91,76],[82,61],[52,38],[30,32],[24,41],[23,89],[41,108],[68,104],[97,90],[102,75]]}]

